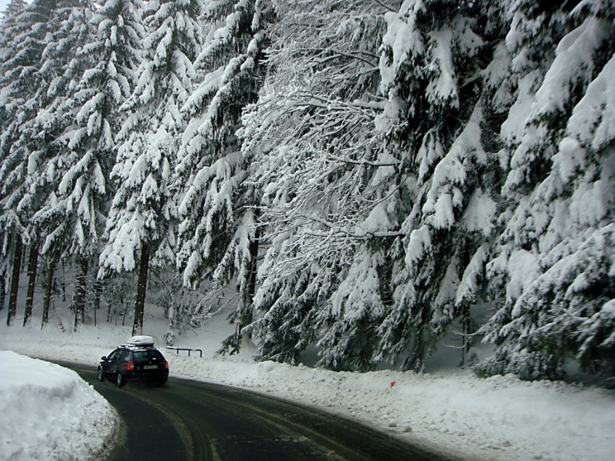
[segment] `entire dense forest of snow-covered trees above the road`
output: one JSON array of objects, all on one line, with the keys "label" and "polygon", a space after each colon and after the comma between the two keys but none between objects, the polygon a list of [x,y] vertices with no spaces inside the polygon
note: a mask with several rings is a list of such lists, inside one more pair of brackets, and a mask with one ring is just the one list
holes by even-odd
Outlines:
[{"label": "entire dense forest of snow-covered trees above the road", "polygon": [[612,383],[614,53],[613,0],[12,0],[0,309]]}]

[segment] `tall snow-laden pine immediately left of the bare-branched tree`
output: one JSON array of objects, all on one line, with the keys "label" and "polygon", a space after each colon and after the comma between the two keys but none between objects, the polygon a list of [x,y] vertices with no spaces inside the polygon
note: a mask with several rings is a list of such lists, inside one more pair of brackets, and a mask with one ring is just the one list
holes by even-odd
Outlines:
[{"label": "tall snow-laden pine immediately left of the bare-branched tree", "polygon": [[187,287],[205,279],[238,287],[234,333],[223,350],[238,351],[241,329],[251,323],[258,230],[254,187],[246,185],[249,159],[236,131],[241,113],[256,101],[265,67],[265,27],[275,11],[267,0],[208,1],[208,39],[195,67],[200,84],[182,113],[183,133],[174,181],[181,193],[177,265]]}]

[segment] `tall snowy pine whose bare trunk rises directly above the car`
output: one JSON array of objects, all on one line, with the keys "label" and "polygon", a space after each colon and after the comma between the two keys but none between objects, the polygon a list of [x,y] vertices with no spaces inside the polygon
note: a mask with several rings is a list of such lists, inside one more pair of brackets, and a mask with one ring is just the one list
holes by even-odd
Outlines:
[{"label": "tall snowy pine whose bare trunk rises directly above the car", "polygon": [[153,0],[143,10],[144,60],[129,112],[118,133],[111,178],[118,189],[107,220],[98,276],[137,268],[133,333],[143,326],[147,274],[152,263],[175,263],[175,191],[170,190],[185,123],[180,108],[192,94],[194,68],[203,43],[199,0]]}]

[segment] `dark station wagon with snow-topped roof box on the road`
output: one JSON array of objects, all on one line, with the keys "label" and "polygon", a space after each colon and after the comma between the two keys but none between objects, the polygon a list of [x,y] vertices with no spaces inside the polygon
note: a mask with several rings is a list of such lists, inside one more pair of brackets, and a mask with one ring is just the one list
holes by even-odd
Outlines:
[{"label": "dark station wagon with snow-topped roof box on the road", "polygon": [[123,386],[126,381],[147,381],[162,385],[168,380],[169,364],[155,348],[151,336],[133,336],[98,364],[98,381],[110,379]]}]

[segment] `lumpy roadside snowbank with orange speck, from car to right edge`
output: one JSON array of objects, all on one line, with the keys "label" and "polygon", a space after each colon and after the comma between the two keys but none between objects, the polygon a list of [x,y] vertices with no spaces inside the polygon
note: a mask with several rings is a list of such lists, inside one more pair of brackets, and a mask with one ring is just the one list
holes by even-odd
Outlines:
[{"label": "lumpy roadside snowbank with orange speck, from car to right edge", "polygon": [[513,376],[335,373],[168,357],[176,375],[315,405],[469,460],[606,461],[615,451],[615,394],[607,390]]}]

